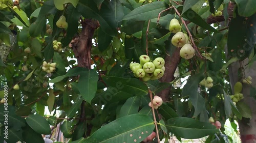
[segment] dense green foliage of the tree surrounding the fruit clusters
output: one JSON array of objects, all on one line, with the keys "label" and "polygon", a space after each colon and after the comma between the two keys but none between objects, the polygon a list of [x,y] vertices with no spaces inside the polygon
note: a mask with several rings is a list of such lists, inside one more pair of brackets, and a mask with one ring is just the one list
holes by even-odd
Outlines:
[{"label": "dense green foliage of the tree surrounding the fruit clusters", "polygon": [[[63,136],[72,142],[141,142],[153,131],[159,139],[171,133],[178,139],[209,135],[208,142],[224,142],[224,126],[221,131],[216,129],[208,123],[209,117],[222,125],[226,119],[250,119],[251,111],[244,101],[236,106],[229,96],[227,67],[246,58],[250,63],[256,60],[255,1],[140,2],[0,1],[0,141],[44,142],[40,134],[51,134],[51,127],[60,124]],[[231,15],[230,5],[234,11]],[[223,15],[211,16],[221,6]],[[134,77],[129,65],[139,63],[140,55],[156,59],[175,53],[177,47],[170,42],[174,33],[169,32],[173,18],[189,35],[196,49],[194,58],[181,59],[180,76],[172,82],[143,82]],[[72,47],[90,19],[100,25],[93,33],[89,53],[92,69],[79,67],[76,47]],[[29,51],[25,51],[27,47]],[[175,66],[172,64],[165,61],[165,67]],[[213,86],[199,85],[208,76]],[[240,81],[247,78],[243,67],[238,76]],[[175,88],[181,77],[187,77],[184,88]],[[18,90],[13,89],[15,84]],[[163,105],[150,108],[152,96],[169,87]],[[251,96],[255,96],[254,89],[251,87]],[[44,115],[45,106],[53,116]],[[2,134],[6,110],[8,139]]]}]

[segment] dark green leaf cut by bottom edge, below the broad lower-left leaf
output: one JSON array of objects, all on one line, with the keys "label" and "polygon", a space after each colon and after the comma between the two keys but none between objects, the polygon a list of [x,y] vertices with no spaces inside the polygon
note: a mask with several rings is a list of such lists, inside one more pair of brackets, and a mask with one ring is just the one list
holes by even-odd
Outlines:
[{"label": "dark green leaf cut by bottom edge, below the broad lower-left leaf", "polygon": [[42,135],[35,132],[28,125],[23,130],[22,136],[23,136],[24,141],[26,141],[26,143],[34,143],[35,140],[38,143],[45,143],[45,140],[44,140],[44,138],[42,138]]}]

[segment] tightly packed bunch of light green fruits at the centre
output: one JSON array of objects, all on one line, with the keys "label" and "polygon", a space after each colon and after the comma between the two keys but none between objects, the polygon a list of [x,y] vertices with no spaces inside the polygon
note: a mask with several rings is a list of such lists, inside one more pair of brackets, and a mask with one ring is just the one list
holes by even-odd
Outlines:
[{"label": "tightly packed bunch of light green fruits at the centre", "polygon": [[150,62],[148,55],[140,56],[140,63],[131,63],[130,69],[135,77],[142,78],[143,81],[156,80],[163,76],[165,71],[165,61],[163,58],[156,58]]}]

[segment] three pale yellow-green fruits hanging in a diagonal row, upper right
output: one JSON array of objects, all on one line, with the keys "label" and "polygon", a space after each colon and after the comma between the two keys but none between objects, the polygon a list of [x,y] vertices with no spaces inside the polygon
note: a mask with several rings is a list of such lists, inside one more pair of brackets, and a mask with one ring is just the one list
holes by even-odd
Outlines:
[{"label": "three pale yellow-green fruits hanging in a diagonal row, upper right", "polygon": [[177,19],[170,20],[169,31],[175,33],[172,44],[180,49],[180,56],[184,59],[191,59],[195,54],[195,49],[190,45],[187,34],[181,32],[181,25]]}]

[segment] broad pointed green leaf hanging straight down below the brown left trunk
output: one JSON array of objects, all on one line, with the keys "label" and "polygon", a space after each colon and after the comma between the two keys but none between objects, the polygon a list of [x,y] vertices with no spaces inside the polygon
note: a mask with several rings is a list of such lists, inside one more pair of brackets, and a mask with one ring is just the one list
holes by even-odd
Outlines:
[{"label": "broad pointed green leaf hanging straight down below the brown left trunk", "polygon": [[78,90],[82,98],[90,104],[97,91],[98,78],[98,74],[94,70],[87,70],[81,73],[79,77]]}]

